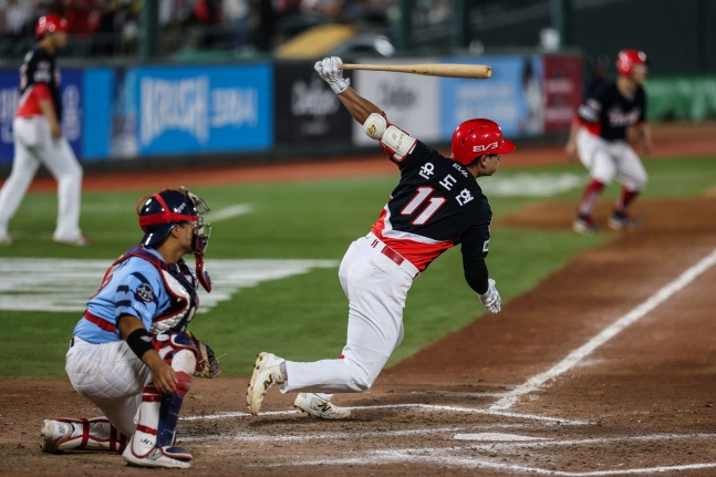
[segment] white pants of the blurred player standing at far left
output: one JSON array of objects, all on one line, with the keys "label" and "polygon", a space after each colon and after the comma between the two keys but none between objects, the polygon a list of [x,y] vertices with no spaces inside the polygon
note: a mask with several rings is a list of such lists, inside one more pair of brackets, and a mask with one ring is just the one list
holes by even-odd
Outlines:
[{"label": "white pants of the blurred player standing at far left", "polygon": [[44,116],[15,117],[12,172],[0,189],[0,237],[18,211],[30,183],[43,164],[58,182],[58,224],[54,238],[72,240],[80,231],[82,167],[66,137],[55,139]]}]

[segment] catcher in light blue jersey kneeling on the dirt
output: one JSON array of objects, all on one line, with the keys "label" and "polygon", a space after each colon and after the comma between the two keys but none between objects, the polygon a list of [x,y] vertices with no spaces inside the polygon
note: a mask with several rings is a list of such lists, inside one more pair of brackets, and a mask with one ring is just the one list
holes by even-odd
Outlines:
[{"label": "catcher in light blue jersey kneeling on the dirt", "polygon": [[[211,225],[207,204],[186,188],[164,189],[136,206],[142,242],[107,269],[77,322],[65,370],[95,418],[46,419],[42,449],[113,450],[129,465],[188,468],[176,426],[191,376],[214,377],[214,351],[186,331],[199,304]],[[194,253],[196,273],[184,256]]]}]

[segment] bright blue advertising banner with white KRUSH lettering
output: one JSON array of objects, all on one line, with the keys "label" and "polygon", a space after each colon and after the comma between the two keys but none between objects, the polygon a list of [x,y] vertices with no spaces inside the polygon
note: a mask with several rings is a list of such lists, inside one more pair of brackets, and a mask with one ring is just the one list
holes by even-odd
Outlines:
[{"label": "bright blue advertising banner with white KRUSH lettering", "polygon": [[134,84],[139,154],[258,151],[273,143],[268,65],[138,68]]}]

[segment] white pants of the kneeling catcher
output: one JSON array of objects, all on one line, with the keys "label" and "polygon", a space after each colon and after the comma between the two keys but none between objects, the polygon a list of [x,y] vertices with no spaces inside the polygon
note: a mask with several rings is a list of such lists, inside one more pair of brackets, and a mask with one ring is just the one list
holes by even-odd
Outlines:
[{"label": "white pants of the kneeling catcher", "polygon": [[122,434],[134,434],[142,393],[152,381],[152,372],[126,341],[92,344],[75,338],[68,351],[65,371],[72,387],[97,406]]}]

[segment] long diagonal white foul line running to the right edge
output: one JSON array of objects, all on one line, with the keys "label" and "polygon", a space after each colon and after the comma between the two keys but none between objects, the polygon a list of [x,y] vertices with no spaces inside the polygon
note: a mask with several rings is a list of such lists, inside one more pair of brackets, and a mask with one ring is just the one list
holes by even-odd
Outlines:
[{"label": "long diagonal white foul line running to the right edge", "polygon": [[522,395],[543,388],[544,383],[574,367],[580,361],[590,355],[599,346],[616,336],[625,328],[641,320],[648,312],[668,300],[674,293],[684,289],[699,274],[708,270],[714,263],[716,263],[716,249],[699,260],[698,263],[684,271],[676,280],[660,289],[656,293],[652,294],[629,313],[619,318],[582,346],[572,351],[567,357],[552,366],[552,369],[530,377],[525,382],[525,384],[516,386],[513,390],[507,392],[505,397],[489,407],[490,411],[508,409],[515,405]]}]

